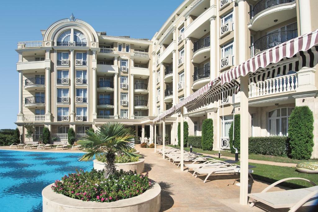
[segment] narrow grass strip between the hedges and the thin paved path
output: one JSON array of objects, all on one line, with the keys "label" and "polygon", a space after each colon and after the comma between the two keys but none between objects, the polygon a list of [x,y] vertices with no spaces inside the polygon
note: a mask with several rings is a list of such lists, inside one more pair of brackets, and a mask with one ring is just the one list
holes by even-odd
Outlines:
[{"label": "narrow grass strip between the hedges and the thin paved path", "polygon": [[[174,145],[168,145],[169,147],[175,147]],[[180,149],[179,146],[176,148]],[[190,151],[190,147],[184,147],[184,150]],[[206,151],[199,148],[192,148],[193,152],[203,153],[203,154],[218,154],[218,151]],[[235,154],[232,154],[228,151],[220,151],[220,153],[225,157],[235,157]],[[279,157],[279,156],[272,156],[272,155],[261,155],[261,154],[249,154],[248,159],[259,160],[259,161],[273,161],[273,162],[280,162],[280,163],[299,163],[302,161],[318,161],[318,159],[310,159],[310,160],[294,160],[288,157]]]}]

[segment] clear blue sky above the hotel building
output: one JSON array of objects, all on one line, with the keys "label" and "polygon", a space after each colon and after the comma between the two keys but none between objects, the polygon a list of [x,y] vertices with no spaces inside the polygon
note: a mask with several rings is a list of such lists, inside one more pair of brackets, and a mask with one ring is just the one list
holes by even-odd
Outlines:
[{"label": "clear blue sky above the hotel building", "polygon": [[[18,41],[42,40],[40,30],[74,13],[107,35],[149,38],[183,0],[6,1],[0,7],[0,129],[15,128],[18,113]],[[159,15],[160,14],[160,15]]]}]

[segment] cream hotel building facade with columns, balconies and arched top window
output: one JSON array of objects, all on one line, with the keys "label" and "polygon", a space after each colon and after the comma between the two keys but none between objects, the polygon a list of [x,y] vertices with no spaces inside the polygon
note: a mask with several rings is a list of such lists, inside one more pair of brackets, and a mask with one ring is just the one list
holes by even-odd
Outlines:
[{"label": "cream hotel building facade with columns, balconies and arched top window", "polygon": [[[85,127],[116,120],[136,129],[142,140],[150,137],[154,142],[152,120],[159,113],[259,52],[317,29],[317,6],[315,0],[186,0],[151,40],[108,36],[73,17],[57,21],[41,31],[43,41],[18,43],[17,125],[20,131],[27,122],[48,126],[54,136],[65,140],[65,135],[60,135],[67,133],[63,127],[73,127],[80,137]],[[66,31],[70,37],[58,43],[61,35],[67,36]],[[86,44],[78,42],[83,38]],[[59,53],[67,53],[67,61],[58,61]],[[78,53],[87,55],[86,63]],[[67,64],[59,65],[63,62]],[[59,78],[59,71],[68,71],[67,79]],[[86,76],[80,71],[86,71]],[[315,72],[315,68],[303,68],[296,73],[289,67],[274,71],[272,79],[265,76],[250,83],[249,135],[287,135],[292,108],[308,105],[314,113],[313,157],[317,158]],[[31,78],[36,83],[26,85]],[[62,90],[61,96],[58,89],[68,89],[68,95]],[[86,89],[86,95],[79,89]],[[213,149],[227,149],[228,128],[234,110],[239,113],[238,102],[236,96],[194,112],[185,111],[189,134],[201,135],[203,120],[212,118]],[[61,113],[61,107],[68,113],[64,109]],[[84,116],[84,109],[78,109],[82,107],[87,108]],[[166,142],[176,144],[178,119],[173,115],[165,120],[165,127],[157,124],[156,134],[168,134]]]}]

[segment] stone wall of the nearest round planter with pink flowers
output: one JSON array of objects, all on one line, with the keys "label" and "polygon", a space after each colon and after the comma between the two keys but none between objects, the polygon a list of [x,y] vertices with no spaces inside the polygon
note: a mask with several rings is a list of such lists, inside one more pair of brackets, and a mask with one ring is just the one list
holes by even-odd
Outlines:
[{"label": "stone wall of the nearest round planter with pink flowers", "polygon": [[116,202],[93,202],[81,201],[73,199],[62,194],[57,194],[52,191],[51,185],[46,186],[42,190],[43,197],[43,212],[86,212],[86,211],[160,211],[160,192],[161,188],[158,183],[153,183],[153,187],[145,193],[129,198],[118,200]]}]

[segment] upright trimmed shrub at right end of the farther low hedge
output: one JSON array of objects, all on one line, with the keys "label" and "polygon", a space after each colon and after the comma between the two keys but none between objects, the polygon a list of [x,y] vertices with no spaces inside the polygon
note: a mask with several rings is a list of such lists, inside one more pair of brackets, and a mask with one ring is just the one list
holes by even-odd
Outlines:
[{"label": "upright trimmed shrub at right end of the farther low hedge", "polygon": [[202,140],[203,150],[211,151],[213,149],[213,120],[204,119],[202,123]]}]

